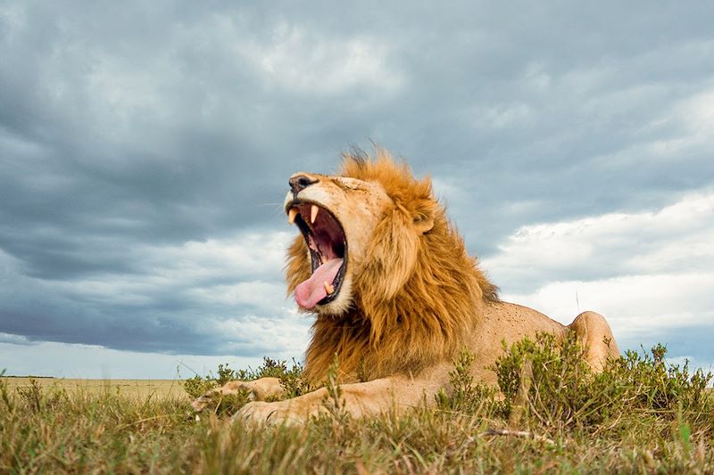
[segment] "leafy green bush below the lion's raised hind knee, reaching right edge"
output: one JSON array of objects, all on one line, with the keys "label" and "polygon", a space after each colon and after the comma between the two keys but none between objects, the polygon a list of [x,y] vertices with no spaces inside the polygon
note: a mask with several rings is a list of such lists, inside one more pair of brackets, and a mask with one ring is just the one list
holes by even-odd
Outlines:
[{"label": "leafy green bush below the lion's raised hind knee, reaching right edge", "polygon": [[506,347],[493,367],[505,413],[524,399],[519,397],[524,387],[530,422],[546,427],[594,427],[635,412],[674,419],[677,412],[711,414],[714,409],[707,389],[711,373],[690,374],[688,364],[668,364],[661,345],[652,348],[652,356],[627,351],[612,358],[602,373],[591,372],[584,351],[573,334],[558,340],[541,333]]}]

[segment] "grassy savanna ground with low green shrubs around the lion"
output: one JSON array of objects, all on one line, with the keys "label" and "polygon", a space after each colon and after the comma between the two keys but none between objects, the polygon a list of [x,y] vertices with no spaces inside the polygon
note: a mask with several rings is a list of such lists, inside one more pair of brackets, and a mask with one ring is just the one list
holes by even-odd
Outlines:
[{"label": "grassy savanna ground with low green shrubs around the lion", "polygon": [[[499,390],[454,362],[436,405],[355,421],[333,370],[324,414],[303,427],[246,427],[245,395],[196,417],[192,396],[231,378],[281,378],[299,365],[220,366],[183,381],[0,382],[2,473],[714,473],[710,374],[667,364],[665,349],[630,352],[594,375],[574,341],[542,335],[494,367]],[[151,386],[150,388],[148,386]],[[179,390],[177,390],[179,389]]]}]

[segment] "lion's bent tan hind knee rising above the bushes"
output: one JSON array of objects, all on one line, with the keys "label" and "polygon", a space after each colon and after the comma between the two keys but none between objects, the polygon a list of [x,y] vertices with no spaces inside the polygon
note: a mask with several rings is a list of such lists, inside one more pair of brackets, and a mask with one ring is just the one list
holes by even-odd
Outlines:
[{"label": "lion's bent tan hind knee rising above the bushes", "polygon": [[618,357],[619,348],[605,317],[595,312],[577,315],[568,328],[585,344],[585,361],[601,373],[609,357]]}]

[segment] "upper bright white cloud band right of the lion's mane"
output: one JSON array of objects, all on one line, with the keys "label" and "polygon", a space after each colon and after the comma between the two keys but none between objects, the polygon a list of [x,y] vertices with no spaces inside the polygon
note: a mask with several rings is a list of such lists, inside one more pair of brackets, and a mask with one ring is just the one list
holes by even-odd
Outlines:
[{"label": "upper bright white cloud band right of the lion's mane", "polygon": [[526,225],[484,265],[511,291],[569,279],[701,273],[714,267],[714,192],[685,196],[663,209]]}]

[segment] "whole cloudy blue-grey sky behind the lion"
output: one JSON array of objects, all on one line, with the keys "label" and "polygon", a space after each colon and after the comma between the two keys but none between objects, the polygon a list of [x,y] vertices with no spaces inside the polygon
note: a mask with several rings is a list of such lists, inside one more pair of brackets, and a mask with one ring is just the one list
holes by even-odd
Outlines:
[{"label": "whole cloudy blue-grey sky behind the lion", "polygon": [[0,369],[300,360],[281,203],[431,176],[502,299],[714,367],[714,4],[0,0]]}]

